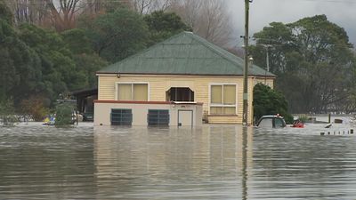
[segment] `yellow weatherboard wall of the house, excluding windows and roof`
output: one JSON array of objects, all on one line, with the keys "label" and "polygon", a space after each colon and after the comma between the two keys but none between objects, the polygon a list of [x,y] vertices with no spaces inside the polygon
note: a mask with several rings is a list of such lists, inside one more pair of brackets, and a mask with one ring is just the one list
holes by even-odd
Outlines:
[{"label": "yellow weatherboard wall of the house, excluding windows and roof", "polygon": [[[211,116],[209,123],[216,124],[241,124],[242,122],[242,76],[145,76],[145,75],[103,75],[99,76],[98,100],[117,100],[117,83],[147,83],[149,84],[150,101],[166,101],[166,91],[171,87],[190,87],[194,92],[194,101],[203,103],[203,113],[209,113],[211,84],[236,84],[237,115],[235,116]],[[272,78],[248,79],[248,121],[253,122],[253,88],[257,83],[266,83],[273,87]],[[210,113],[209,113],[210,114]]]}]

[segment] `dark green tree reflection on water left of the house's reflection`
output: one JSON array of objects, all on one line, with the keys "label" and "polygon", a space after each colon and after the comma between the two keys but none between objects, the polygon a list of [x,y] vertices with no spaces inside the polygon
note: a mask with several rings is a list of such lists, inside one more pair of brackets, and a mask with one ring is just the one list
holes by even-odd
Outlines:
[{"label": "dark green tree reflection on water left of the house's reflection", "polygon": [[93,128],[0,128],[0,199],[91,198]]}]

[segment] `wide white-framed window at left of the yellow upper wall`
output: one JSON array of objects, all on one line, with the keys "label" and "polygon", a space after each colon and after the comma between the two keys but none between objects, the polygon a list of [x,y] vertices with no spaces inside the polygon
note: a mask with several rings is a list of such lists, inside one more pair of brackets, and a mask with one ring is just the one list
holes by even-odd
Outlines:
[{"label": "wide white-framed window at left of the yellow upper wall", "polygon": [[117,100],[149,100],[148,84],[117,84]]}]

